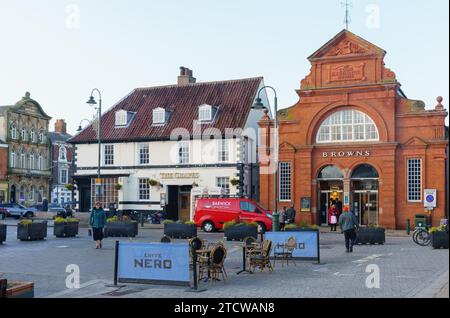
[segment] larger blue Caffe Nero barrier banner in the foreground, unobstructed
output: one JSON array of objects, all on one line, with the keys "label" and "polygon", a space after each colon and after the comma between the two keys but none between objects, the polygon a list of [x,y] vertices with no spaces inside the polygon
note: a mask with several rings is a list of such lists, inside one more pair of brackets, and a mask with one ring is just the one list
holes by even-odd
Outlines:
[{"label": "larger blue Caffe Nero barrier banner in the foreground, unobstructed", "polygon": [[120,283],[189,286],[189,244],[118,243]]}]

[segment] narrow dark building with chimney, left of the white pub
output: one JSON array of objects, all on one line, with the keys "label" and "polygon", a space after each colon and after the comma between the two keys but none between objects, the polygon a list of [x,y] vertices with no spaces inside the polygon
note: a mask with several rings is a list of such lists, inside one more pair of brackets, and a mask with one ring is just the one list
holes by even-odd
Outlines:
[{"label": "narrow dark building with chimney, left of the white pub", "polygon": [[51,202],[61,205],[73,201],[72,176],[74,173],[73,145],[67,141],[72,135],[67,133],[67,125],[63,119],[55,122],[55,130],[49,133],[50,161],[52,168]]}]

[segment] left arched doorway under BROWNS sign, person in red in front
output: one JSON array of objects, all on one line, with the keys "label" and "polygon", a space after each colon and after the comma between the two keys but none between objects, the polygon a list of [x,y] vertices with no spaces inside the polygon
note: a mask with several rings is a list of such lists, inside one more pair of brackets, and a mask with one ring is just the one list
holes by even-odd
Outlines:
[{"label": "left arched doorway under BROWNS sign, person in red in front", "polygon": [[317,176],[319,186],[319,211],[318,224],[328,225],[328,209],[336,204],[342,212],[342,199],[344,196],[344,174],[333,165],[320,170]]}]

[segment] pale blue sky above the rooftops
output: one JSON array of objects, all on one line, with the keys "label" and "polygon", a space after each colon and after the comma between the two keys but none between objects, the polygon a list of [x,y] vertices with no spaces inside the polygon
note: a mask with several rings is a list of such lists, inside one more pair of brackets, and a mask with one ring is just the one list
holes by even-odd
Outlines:
[{"label": "pale blue sky above the rooftops", "polygon": [[[448,14],[447,0],[353,0],[350,30],[388,52],[409,98],[448,108]],[[30,91],[74,133],[92,88],[109,108],[186,66],[202,82],[264,76],[284,108],[343,28],[341,0],[0,0],[0,105]]]}]

